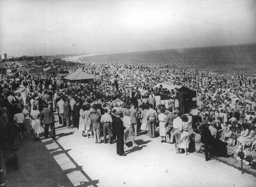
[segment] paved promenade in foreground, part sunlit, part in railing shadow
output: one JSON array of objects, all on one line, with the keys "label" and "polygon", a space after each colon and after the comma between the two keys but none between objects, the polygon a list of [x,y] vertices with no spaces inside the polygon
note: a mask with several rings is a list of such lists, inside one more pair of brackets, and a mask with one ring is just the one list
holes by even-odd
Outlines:
[{"label": "paved promenade in foreground, part sunlit, part in railing shadow", "polygon": [[116,144],[95,144],[77,129],[55,126],[56,140],[34,142],[25,133],[16,152],[19,170],[8,173],[10,186],[255,186],[254,176],[216,160],[205,162],[202,154],[175,154],[174,145],[159,137],[136,137],[139,146],[121,157]]}]

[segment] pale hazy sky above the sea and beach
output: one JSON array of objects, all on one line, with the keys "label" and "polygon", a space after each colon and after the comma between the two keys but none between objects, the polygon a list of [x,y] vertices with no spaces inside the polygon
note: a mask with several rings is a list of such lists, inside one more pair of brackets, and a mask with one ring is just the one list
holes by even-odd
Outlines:
[{"label": "pale hazy sky above the sea and beach", "polygon": [[0,0],[7,56],[246,43],[256,43],[255,0]]}]

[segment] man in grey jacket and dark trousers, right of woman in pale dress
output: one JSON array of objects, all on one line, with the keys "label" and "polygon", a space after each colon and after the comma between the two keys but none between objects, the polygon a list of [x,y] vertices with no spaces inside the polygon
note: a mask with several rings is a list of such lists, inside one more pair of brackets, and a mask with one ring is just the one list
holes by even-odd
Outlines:
[{"label": "man in grey jacket and dark trousers, right of woman in pale dress", "polygon": [[52,139],[55,140],[54,116],[47,104],[44,104],[44,110],[41,112],[41,120],[44,121],[44,138],[48,138],[50,126]]}]

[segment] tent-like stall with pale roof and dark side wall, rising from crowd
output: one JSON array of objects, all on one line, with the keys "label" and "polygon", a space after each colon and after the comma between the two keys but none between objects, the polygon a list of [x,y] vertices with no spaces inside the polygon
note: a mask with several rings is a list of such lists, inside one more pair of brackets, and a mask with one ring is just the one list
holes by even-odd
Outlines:
[{"label": "tent-like stall with pale roof and dark side wall, rising from crowd", "polygon": [[160,85],[163,86],[163,88],[167,88],[168,90],[174,90],[174,88],[179,89],[181,92],[185,94],[185,98],[188,99],[185,102],[185,112],[189,112],[189,109],[192,109],[193,107],[196,107],[196,91],[191,90],[185,86],[181,85],[174,85],[174,84],[166,84],[166,83],[158,83],[154,88],[159,88]]}]

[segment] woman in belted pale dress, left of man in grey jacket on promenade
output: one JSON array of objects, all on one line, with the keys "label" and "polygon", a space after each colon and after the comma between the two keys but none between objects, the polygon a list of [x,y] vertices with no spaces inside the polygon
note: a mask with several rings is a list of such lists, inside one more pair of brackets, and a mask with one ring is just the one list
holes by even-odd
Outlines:
[{"label": "woman in belted pale dress, left of man in grey jacket on promenade", "polygon": [[34,134],[36,136],[34,141],[39,141],[39,135],[42,132],[40,123],[40,112],[37,110],[36,105],[34,105],[32,109],[33,110],[30,112],[30,126],[33,128]]}]

